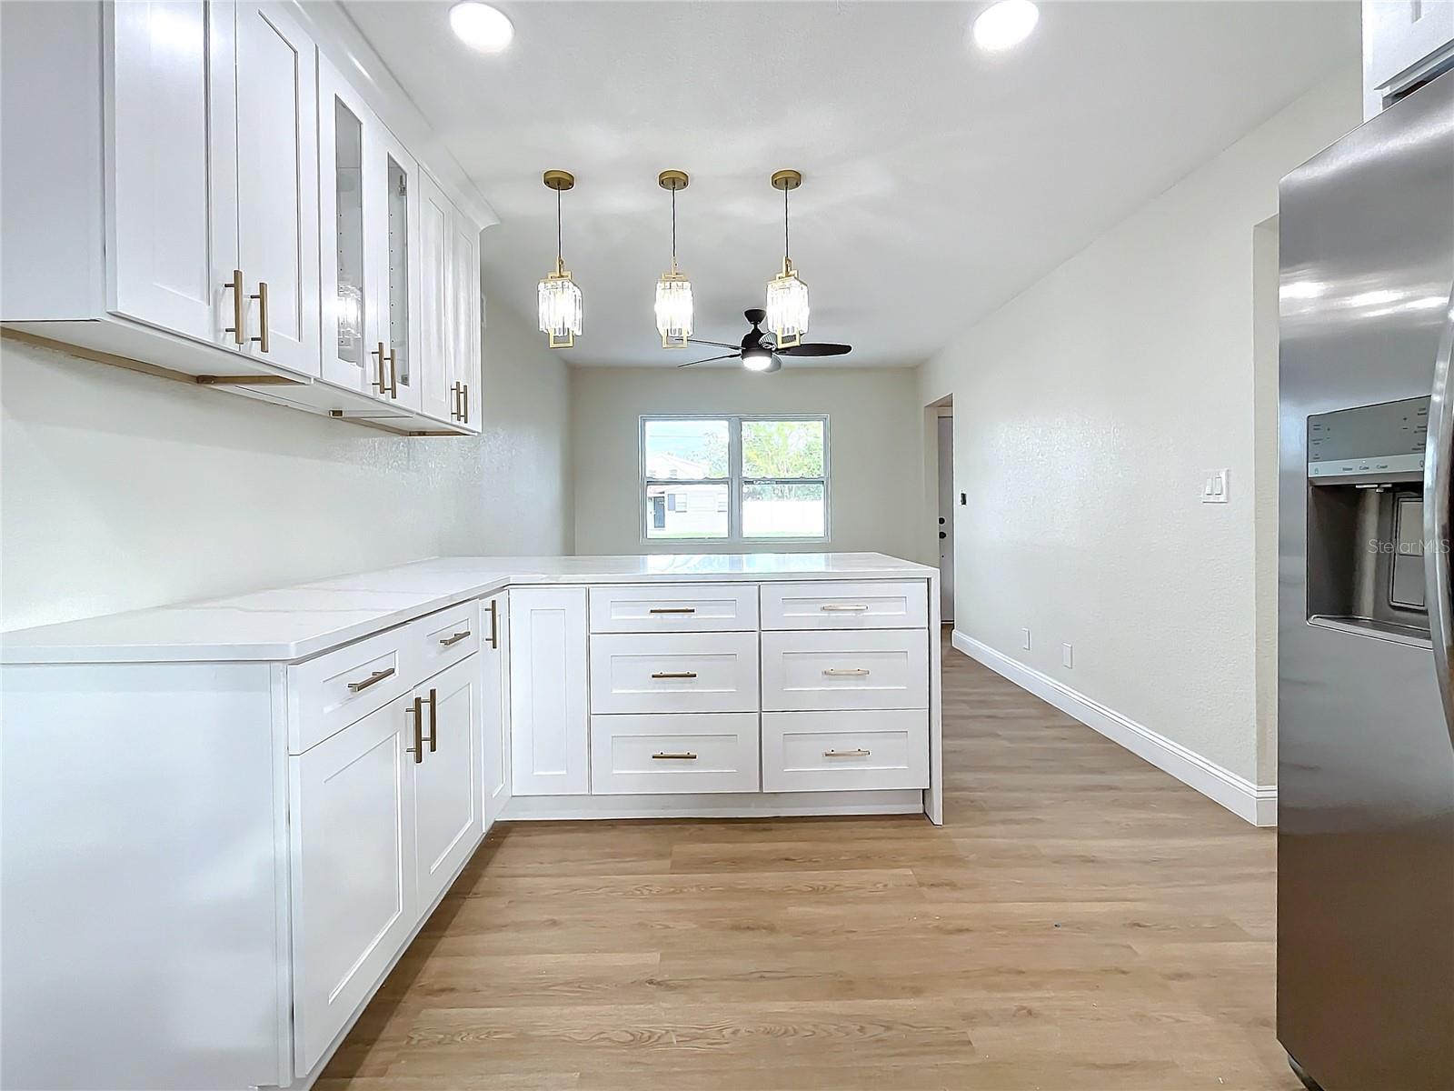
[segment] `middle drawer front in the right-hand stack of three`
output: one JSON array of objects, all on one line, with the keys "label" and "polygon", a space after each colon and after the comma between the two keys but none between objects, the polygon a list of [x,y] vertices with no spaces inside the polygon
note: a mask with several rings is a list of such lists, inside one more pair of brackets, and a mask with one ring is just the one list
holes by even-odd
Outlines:
[{"label": "middle drawer front in the right-hand stack of three", "polygon": [[929,707],[929,634],[763,633],[765,711]]}]

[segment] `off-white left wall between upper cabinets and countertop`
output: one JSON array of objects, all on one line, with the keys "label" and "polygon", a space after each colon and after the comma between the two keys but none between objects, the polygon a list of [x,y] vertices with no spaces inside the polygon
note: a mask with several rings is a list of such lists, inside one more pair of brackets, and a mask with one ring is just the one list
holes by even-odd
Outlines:
[{"label": "off-white left wall between upper cabinets and countertop", "polygon": [[395,438],[0,342],[0,627],[451,553],[569,553],[566,368],[484,332],[480,438]]}]

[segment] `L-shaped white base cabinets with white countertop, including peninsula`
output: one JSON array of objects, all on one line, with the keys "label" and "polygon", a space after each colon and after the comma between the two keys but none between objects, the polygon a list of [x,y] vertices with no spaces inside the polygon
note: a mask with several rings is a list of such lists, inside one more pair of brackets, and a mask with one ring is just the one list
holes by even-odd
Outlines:
[{"label": "L-shaped white base cabinets with white countertop, including peninsula", "polygon": [[938,624],[935,569],[794,553],[446,557],[7,633],[4,989],[44,998],[7,1074],[307,1085],[499,819],[938,823]]}]

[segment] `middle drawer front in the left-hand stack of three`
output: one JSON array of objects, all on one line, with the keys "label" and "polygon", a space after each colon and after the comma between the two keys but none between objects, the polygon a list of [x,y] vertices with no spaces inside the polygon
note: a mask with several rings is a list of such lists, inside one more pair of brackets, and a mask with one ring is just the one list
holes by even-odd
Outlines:
[{"label": "middle drawer front in the left-hand stack of three", "polygon": [[590,637],[593,714],[756,710],[756,633]]}]

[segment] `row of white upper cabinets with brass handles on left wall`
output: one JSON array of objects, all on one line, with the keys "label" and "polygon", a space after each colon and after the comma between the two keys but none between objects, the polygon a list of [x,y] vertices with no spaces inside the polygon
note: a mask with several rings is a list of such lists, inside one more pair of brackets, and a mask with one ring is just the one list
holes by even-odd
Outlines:
[{"label": "row of white upper cabinets with brass handles on left wall", "polygon": [[426,185],[395,134],[427,127],[330,19],[0,4],[0,323],[314,413],[477,431],[480,228],[459,209],[481,207]]}]

